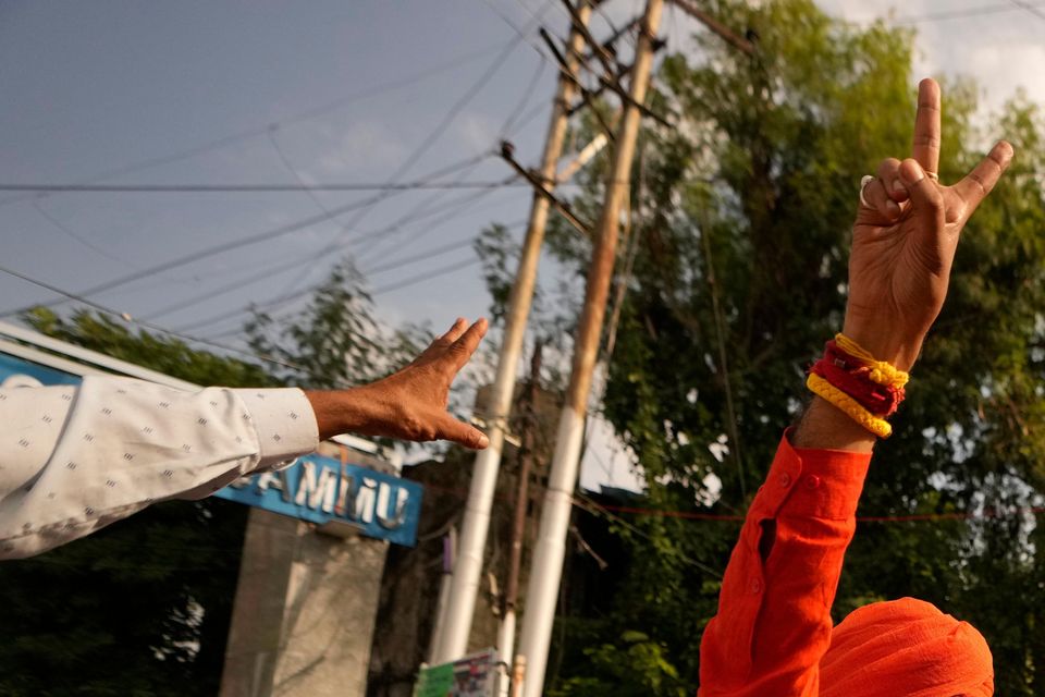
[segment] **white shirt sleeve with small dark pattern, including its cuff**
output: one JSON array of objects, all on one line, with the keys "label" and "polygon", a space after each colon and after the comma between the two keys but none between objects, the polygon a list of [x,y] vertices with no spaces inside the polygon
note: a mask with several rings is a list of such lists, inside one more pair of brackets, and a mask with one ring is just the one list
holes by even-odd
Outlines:
[{"label": "white shirt sleeve with small dark pattern, including its cuff", "polygon": [[201,499],[318,442],[297,389],[192,392],[95,376],[0,389],[0,559],[38,554],[155,501]]}]

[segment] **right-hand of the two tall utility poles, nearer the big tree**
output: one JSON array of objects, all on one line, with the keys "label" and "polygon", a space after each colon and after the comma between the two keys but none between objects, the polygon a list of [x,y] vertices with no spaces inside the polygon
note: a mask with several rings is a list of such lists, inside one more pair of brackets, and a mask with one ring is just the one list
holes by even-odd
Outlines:
[{"label": "right-hand of the two tall utility poles, nearer the big tree", "polygon": [[588,396],[616,259],[620,206],[628,192],[631,160],[635,157],[635,145],[642,117],[640,105],[646,101],[653,64],[653,40],[660,27],[663,5],[663,0],[647,0],[646,14],[642,17],[636,48],[635,65],[631,70],[631,86],[628,99],[623,106],[624,115],[616,137],[613,166],[606,181],[605,200],[588,270],[585,307],[574,345],[569,389],[558,421],[555,455],[552,458],[551,476],[544,493],[541,528],[526,596],[526,614],[519,643],[519,652],[526,657],[527,664],[522,697],[540,697],[544,687],[548,649],[551,644],[558,586],[563,574],[563,558],[573,510],[574,488],[580,465],[580,447],[588,412]]}]

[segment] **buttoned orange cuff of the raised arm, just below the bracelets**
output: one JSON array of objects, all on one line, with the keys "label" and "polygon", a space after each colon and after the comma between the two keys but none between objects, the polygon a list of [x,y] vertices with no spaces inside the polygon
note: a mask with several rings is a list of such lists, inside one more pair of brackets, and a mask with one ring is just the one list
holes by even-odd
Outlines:
[{"label": "buttoned orange cuff of the raised arm, just below the bracelets", "polygon": [[759,491],[759,506],[777,515],[841,521],[857,513],[871,453],[794,448],[780,439],[773,466]]}]

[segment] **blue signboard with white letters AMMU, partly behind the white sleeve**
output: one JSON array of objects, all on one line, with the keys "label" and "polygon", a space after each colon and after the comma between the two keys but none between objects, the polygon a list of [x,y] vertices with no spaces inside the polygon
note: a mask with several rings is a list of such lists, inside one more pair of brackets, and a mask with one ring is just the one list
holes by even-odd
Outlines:
[{"label": "blue signboard with white letters AMMU, partly behind the white sleeve", "polygon": [[[0,382],[27,376],[42,384],[76,384],[79,376],[0,353]],[[280,472],[250,475],[214,496],[310,523],[341,523],[361,535],[413,547],[421,485],[330,457],[307,455]]]}]

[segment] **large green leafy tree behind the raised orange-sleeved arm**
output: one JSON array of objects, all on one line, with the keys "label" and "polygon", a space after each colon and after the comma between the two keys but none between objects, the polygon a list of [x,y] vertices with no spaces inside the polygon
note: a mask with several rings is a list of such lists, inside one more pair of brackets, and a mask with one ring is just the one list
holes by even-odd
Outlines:
[{"label": "large green leafy tree behind the raised orange-sleeved arm", "polygon": [[[759,54],[708,35],[697,38],[699,62],[673,56],[660,69],[652,105],[681,122],[641,136],[631,193],[638,252],[623,279],[603,412],[637,455],[649,505],[736,515],[801,409],[804,368],[841,326],[860,176],[910,149],[913,34],[855,27],[809,0],[711,4],[729,26],[758,34]],[[981,157],[986,134],[973,126],[973,84],[952,82],[944,95],[941,176],[951,181]],[[1013,143],[1017,164],[966,229],[950,298],[860,509],[986,515],[861,525],[836,612],[905,595],[936,602],[986,635],[999,694],[1031,695],[1045,683],[1045,540],[1016,509],[1042,500],[1045,131],[1023,99],[998,123],[989,135]],[[600,176],[593,171],[571,201],[581,216],[593,218]],[[551,243],[581,272],[588,241],[554,225]],[[595,636],[574,619],[564,641],[614,645],[626,663],[620,637],[640,632],[694,689],[701,631],[738,527],[632,523],[611,616],[598,619]],[[622,677],[599,661],[566,664],[552,688],[582,694],[578,685],[627,675],[646,694],[674,694],[674,683],[641,677],[640,664]]]}]

